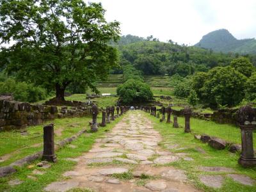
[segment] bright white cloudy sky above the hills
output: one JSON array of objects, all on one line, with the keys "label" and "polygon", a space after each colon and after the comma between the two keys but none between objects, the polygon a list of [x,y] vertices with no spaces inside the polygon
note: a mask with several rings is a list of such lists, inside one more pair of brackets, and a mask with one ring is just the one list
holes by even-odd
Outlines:
[{"label": "bright white cloudy sky above the hills", "polygon": [[228,29],[236,38],[256,38],[256,0],[90,0],[101,2],[122,35],[153,35],[166,42],[196,44],[203,35]]}]

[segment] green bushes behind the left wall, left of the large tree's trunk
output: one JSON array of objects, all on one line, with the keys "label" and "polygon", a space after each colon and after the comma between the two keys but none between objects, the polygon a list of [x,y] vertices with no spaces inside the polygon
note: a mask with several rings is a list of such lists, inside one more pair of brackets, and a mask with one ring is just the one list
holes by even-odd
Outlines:
[{"label": "green bushes behind the left wall, left of the large tree's trunk", "polygon": [[15,100],[24,102],[36,102],[47,97],[44,88],[25,82],[16,82],[12,78],[0,83],[0,93],[12,93]]}]

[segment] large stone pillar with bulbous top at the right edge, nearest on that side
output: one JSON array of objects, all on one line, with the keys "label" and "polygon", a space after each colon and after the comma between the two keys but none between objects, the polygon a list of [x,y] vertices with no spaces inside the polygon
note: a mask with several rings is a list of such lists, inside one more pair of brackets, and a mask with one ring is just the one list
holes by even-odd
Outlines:
[{"label": "large stone pillar with bulbous top at the right edge, nearest on that side", "polygon": [[238,124],[241,129],[242,152],[238,163],[243,167],[256,166],[253,152],[253,127],[255,127],[255,111],[244,106],[237,111]]}]

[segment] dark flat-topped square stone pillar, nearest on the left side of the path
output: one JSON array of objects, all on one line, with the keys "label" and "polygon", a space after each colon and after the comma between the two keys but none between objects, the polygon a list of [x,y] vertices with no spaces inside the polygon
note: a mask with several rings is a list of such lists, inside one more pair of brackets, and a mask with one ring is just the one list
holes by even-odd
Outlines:
[{"label": "dark flat-topped square stone pillar, nearest on the left side of the path", "polygon": [[44,127],[44,152],[42,160],[56,163],[57,158],[54,152],[54,125],[49,124]]}]

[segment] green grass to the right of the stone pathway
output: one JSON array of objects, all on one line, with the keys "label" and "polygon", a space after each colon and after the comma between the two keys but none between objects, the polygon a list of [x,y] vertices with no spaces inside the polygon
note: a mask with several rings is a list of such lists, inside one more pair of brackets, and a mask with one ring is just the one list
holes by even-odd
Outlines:
[{"label": "green grass to the right of the stone pathway", "polygon": [[[143,113],[147,118],[152,120],[154,123],[154,128],[159,131],[163,136],[163,141],[160,143],[161,147],[168,145],[178,144],[180,150],[168,149],[173,153],[184,152],[188,157],[192,157],[194,161],[176,161],[174,163],[165,164],[164,166],[174,166],[175,168],[185,170],[188,176],[189,182],[193,184],[196,188],[202,189],[204,191],[256,191],[256,186],[244,186],[235,182],[234,180],[227,177],[228,173],[221,172],[203,172],[198,169],[198,166],[225,166],[227,168],[233,168],[235,173],[247,175],[252,179],[256,179],[256,168],[242,168],[237,160],[239,159],[239,154],[232,154],[228,150],[215,150],[209,147],[206,143],[202,143],[193,138],[193,134],[184,133],[184,129],[173,129],[172,125],[159,123],[159,119],[150,116],[148,113]],[[179,124],[184,126],[184,118],[179,118]],[[219,127],[220,126],[220,127]],[[233,127],[232,125],[218,125],[214,122],[206,122],[202,120],[191,119],[191,129],[192,131],[202,131],[209,132],[211,134],[216,134],[216,136],[223,136],[229,138],[229,140],[240,139],[239,129]],[[228,131],[223,131],[223,129],[228,129]],[[234,135],[229,135],[227,132],[234,131]],[[239,138],[239,139],[237,139]],[[199,152],[196,148],[202,148],[205,154]],[[220,189],[213,189],[205,186],[200,182],[200,175],[223,175],[225,182]],[[141,181],[140,184],[143,184]]]}]

